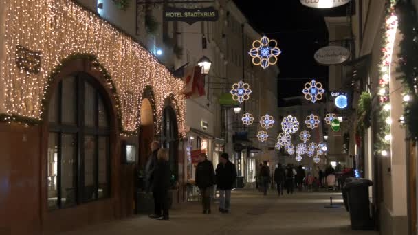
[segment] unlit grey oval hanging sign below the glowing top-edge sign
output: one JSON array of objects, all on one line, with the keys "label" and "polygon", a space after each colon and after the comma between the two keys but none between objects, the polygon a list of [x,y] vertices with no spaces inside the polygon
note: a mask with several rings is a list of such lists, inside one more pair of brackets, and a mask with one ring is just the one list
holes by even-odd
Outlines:
[{"label": "unlit grey oval hanging sign below the glowing top-edge sign", "polygon": [[320,65],[339,65],[350,58],[350,52],[345,47],[331,45],[318,49],[314,58]]}]

